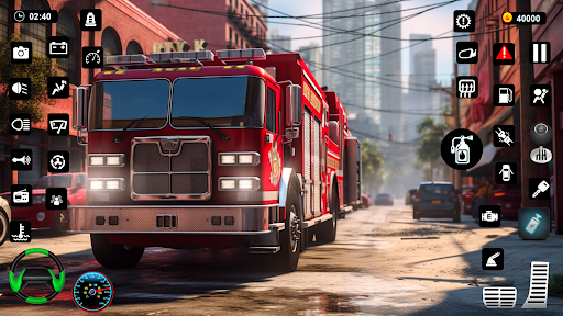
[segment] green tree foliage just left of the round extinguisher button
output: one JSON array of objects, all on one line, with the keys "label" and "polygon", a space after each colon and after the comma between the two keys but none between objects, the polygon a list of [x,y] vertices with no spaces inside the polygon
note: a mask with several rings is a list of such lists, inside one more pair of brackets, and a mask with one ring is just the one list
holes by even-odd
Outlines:
[{"label": "green tree foliage just left of the round extinguisher button", "polygon": [[[427,116],[417,125],[417,132],[420,134],[420,144],[417,149],[418,161],[429,162],[430,169],[441,156],[440,146],[444,138],[444,132],[448,125],[434,122],[434,117]],[[418,168],[422,165],[419,163]],[[431,170],[430,170],[431,171]]]}]

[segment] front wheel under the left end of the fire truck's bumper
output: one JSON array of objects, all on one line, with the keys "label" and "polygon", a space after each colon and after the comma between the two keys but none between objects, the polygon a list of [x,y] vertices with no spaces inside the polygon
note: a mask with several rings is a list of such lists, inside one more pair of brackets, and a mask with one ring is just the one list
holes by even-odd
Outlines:
[{"label": "front wheel under the left end of the fire truck's bumper", "polygon": [[93,257],[106,268],[132,268],[145,252],[145,248],[111,244],[106,235],[90,234],[90,240]]}]

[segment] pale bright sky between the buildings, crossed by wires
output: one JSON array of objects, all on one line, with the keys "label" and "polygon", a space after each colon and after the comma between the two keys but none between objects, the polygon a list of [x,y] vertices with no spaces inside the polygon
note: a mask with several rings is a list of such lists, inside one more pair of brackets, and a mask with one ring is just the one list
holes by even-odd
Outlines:
[{"label": "pale bright sky between the buildings, crossed by wires", "polygon": [[[422,7],[426,4],[432,4],[438,2],[443,2],[445,0],[410,0],[401,2],[401,9],[408,9],[413,7]],[[401,38],[409,38],[409,35],[412,33],[417,34],[430,34],[432,36],[437,36],[446,31],[451,31],[453,29],[453,11],[454,10],[465,10],[470,0],[460,0],[457,2],[441,7],[439,9],[434,9],[423,14],[420,14],[416,18],[407,20],[402,22],[401,25]],[[268,7],[284,13],[288,13],[290,15],[306,15],[306,14],[319,14],[322,13],[322,0],[268,0]],[[413,11],[402,12],[402,15],[411,14],[413,12],[419,12],[423,9],[418,9]],[[280,15],[279,13],[271,12],[271,14]],[[319,19],[320,20],[320,19]],[[268,23],[268,27],[272,30],[274,27],[279,29],[280,35],[289,35],[291,37],[308,37],[308,36],[320,36],[322,35],[321,30],[314,30],[306,26],[296,26],[296,25],[283,25],[275,24],[272,22],[283,22],[283,23],[303,23],[294,19],[271,19]],[[448,33],[443,36],[452,36],[453,32]],[[306,46],[310,42],[316,41],[318,44],[322,43],[322,38],[312,38],[312,40],[301,40],[301,41],[291,41],[291,48],[297,49],[300,46]],[[432,46],[437,50],[437,80],[444,81],[444,83],[450,83],[452,74],[453,74],[453,53],[452,53],[452,38],[432,41]],[[409,42],[402,42],[402,47],[410,45]],[[397,53],[399,54],[399,53]],[[409,49],[401,50],[401,60],[402,60],[402,76],[401,80],[405,82],[408,80],[408,72],[410,70],[409,66]],[[387,75],[387,74],[383,74]],[[398,76],[395,77],[395,80],[398,80]]]}]

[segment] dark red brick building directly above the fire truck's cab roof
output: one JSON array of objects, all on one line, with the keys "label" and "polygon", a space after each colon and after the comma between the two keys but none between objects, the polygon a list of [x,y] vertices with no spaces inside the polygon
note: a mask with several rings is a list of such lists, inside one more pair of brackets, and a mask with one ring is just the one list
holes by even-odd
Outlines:
[{"label": "dark red brick building directly above the fire truck's cab roof", "polygon": [[[178,34],[190,50],[255,47],[267,50],[268,30],[264,15],[245,0],[131,2]],[[202,43],[207,46],[202,47]]]}]

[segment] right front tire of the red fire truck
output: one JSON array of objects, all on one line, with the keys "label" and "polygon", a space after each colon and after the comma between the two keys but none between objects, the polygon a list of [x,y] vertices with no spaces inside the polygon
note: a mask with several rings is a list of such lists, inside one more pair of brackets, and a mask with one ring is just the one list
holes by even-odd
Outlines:
[{"label": "right front tire of the red fire truck", "polygon": [[[279,233],[279,246],[282,247],[277,253],[273,256],[273,268],[279,272],[291,272],[297,269],[299,262],[301,221],[299,218],[301,210],[299,208],[299,200],[297,189],[294,183],[289,184],[286,202],[286,228]],[[307,236],[306,236],[307,237]]]}]

